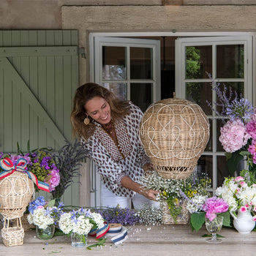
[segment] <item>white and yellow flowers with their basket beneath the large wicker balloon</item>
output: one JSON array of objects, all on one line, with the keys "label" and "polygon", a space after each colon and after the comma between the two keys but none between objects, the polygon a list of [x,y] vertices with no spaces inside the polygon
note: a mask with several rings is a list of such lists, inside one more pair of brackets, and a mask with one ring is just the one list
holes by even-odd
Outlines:
[{"label": "white and yellow flowers with their basket beneath the large wicker balloon", "polygon": [[[206,174],[202,174],[200,178],[192,175],[187,180],[165,179],[156,172],[143,177],[144,187],[160,191],[157,200],[162,203],[165,224],[187,223],[187,202],[194,197],[207,196],[210,184],[211,179]],[[166,216],[167,213],[171,218]]]}]

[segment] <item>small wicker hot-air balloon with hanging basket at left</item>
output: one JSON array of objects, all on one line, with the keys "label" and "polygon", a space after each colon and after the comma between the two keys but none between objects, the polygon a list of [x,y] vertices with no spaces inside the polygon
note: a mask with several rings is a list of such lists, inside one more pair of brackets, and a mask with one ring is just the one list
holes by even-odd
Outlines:
[{"label": "small wicker hot-air balloon with hanging basket at left", "polygon": [[[23,244],[24,230],[20,217],[34,195],[34,183],[26,173],[14,171],[0,180],[0,213],[4,217],[1,236],[5,246]],[[10,227],[10,220],[16,219]]]}]

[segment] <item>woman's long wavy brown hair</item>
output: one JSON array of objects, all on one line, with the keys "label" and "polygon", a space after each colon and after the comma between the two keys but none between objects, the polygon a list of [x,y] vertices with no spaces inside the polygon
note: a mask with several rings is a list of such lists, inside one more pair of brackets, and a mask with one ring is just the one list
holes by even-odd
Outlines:
[{"label": "woman's long wavy brown hair", "polygon": [[123,118],[130,113],[129,102],[127,100],[117,99],[116,96],[103,86],[97,83],[85,83],[78,87],[75,91],[73,99],[73,109],[71,113],[72,135],[76,138],[85,138],[88,140],[94,134],[95,124],[91,122],[84,124],[83,120],[86,118],[86,109],[84,105],[94,97],[102,97],[110,105],[112,118]]}]

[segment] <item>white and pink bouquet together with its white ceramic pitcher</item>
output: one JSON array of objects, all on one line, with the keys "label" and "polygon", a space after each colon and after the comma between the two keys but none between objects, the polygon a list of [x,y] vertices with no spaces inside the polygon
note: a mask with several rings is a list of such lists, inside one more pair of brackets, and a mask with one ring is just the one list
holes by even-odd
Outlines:
[{"label": "white and pink bouquet together with its white ceramic pitcher", "polygon": [[[233,224],[240,233],[249,233],[255,227],[256,215],[253,212],[256,211],[256,181],[251,171],[243,170],[241,176],[225,178],[222,187],[217,188],[216,195],[227,202]],[[242,218],[240,227],[238,221]]]}]

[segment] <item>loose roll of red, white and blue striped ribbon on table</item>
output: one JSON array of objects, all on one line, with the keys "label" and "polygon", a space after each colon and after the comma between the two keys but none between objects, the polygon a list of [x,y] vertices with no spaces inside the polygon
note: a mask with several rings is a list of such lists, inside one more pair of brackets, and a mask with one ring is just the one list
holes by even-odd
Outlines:
[{"label": "loose roll of red, white and blue striped ribbon on table", "polygon": [[98,230],[97,229],[91,230],[89,235],[96,236],[97,239],[105,235],[113,236],[113,238],[111,238],[111,241],[113,241],[115,245],[121,244],[128,238],[126,227],[123,227],[121,224],[115,224],[115,223],[108,224],[108,222],[105,222],[105,226]]}]

